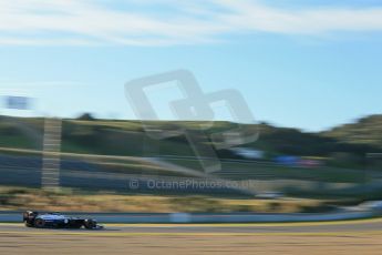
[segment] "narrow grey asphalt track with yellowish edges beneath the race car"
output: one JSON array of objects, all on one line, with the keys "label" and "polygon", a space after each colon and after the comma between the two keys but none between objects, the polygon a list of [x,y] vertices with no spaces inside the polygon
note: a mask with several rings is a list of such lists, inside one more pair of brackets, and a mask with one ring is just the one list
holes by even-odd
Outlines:
[{"label": "narrow grey asphalt track with yellowish edges beneath the race car", "polygon": [[382,218],[316,223],[239,223],[239,224],[105,224],[104,230],[30,228],[18,223],[0,223],[0,233],[37,235],[162,235],[162,234],[309,234],[309,233],[381,233]]}]

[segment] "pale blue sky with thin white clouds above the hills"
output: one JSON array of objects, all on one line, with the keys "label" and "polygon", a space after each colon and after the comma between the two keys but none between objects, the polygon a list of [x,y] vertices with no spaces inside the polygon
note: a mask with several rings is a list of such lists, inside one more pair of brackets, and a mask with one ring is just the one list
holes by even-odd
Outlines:
[{"label": "pale blue sky with thin white clouds above the hills", "polygon": [[[0,0],[0,93],[35,98],[28,114],[135,119],[127,81],[187,69],[258,121],[328,129],[382,112],[382,3],[345,2]],[[172,119],[179,93],[161,96]]]}]

